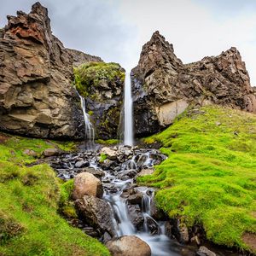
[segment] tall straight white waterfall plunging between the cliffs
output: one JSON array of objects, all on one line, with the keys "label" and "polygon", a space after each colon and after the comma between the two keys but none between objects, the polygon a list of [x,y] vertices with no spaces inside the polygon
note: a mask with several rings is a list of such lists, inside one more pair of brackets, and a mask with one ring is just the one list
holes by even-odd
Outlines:
[{"label": "tall straight white waterfall plunging between the cliffs", "polygon": [[133,109],[130,73],[125,73],[125,131],[124,144],[133,145]]}]

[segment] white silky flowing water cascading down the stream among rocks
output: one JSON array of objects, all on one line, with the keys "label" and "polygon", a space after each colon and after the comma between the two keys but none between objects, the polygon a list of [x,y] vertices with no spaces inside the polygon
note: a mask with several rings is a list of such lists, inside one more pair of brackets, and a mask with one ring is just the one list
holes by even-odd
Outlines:
[{"label": "white silky flowing water cascading down the stream among rocks", "polygon": [[[126,161],[122,167],[122,172],[127,172],[128,170],[135,169],[138,171],[139,168],[152,167],[154,165],[154,159],[150,158],[150,152],[143,154],[134,155],[131,160]],[[102,179],[102,183],[108,182],[112,183],[116,188],[116,191],[105,189],[103,198],[110,203],[114,212],[114,223],[116,226],[116,232],[118,236],[125,235],[136,235],[140,237],[143,241],[146,241],[151,247],[153,256],[177,256],[181,255],[178,253],[180,247],[177,243],[172,241],[169,237],[165,235],[165,223],[154,220],[150,216],[150,205],[154,197],[154,190],[147,187],[136,187],[136,189],[143,193],[143,199],[141,203],[141,210],[143,213],[144,224],[143,229],[137,230],[136,227],[131,223],[131,218],[127,210],[127,201],[122,198],[122,193],[125,189],[130,188],[134,183],[133,178],[120,179],[110,172],[106,172],[105,177]],[[156,234],[152,235],[152,232],[148,228],[148,219],[151,223],[154,223],[154,227],[158,230]]]}]

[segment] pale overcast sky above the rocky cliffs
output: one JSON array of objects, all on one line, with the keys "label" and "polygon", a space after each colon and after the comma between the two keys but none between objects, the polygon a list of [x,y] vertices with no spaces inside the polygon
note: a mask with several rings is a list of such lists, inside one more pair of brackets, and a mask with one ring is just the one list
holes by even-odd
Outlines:
[{"label": "pale overcast sky above the rocky cliffs", "polygon": [[[0,26],[32,0],[0,0]],[[155,30],[183,63],[236,46],[256,85],[256,0],[41,0],[62,43],[130,69]]]}]

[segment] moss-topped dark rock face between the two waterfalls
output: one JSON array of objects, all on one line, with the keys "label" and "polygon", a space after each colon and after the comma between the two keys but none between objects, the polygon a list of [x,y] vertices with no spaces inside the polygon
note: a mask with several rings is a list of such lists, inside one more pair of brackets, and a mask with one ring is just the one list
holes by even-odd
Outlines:
[{"label": "moss-topped dark rock face between the two waterfalls", "polygon": [[96,138],[118,138],[125,70],[117,63],[90,62],[75,69]]}]

